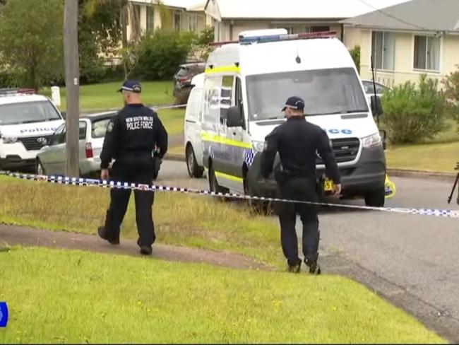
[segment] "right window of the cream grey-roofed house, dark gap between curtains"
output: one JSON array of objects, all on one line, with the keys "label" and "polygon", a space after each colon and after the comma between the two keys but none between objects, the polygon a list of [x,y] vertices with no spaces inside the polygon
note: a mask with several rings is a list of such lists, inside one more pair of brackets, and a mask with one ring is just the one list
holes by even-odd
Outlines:
[{"label": "right window of the cream grey-roofed house, dark gap between curtains", "polygon": [[415,69],[440,71],[440,37],[415,35]]}]

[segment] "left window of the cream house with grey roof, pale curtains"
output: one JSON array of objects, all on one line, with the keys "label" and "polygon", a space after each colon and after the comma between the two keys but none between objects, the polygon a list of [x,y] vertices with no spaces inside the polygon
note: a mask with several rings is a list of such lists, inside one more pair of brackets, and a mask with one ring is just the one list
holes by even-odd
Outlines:
[{"label": "left window of the cream house with grey roof, pale curtains", "polygon": [[395,65],[395,34],[374,31],[371,37],[371,50],[376,69],[393,71]]}]

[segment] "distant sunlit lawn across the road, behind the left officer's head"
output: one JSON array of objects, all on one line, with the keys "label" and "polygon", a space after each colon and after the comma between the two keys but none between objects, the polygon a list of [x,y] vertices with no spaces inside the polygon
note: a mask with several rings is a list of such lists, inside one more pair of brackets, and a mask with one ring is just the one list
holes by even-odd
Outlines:
[{"label": "distant sunlit lawn across the road, behind the left officer's head", "polygon": [[[82,112],[107,110],[123,106],[121,95],[116,91],[121,81],[84,85],[80,88],[80,108]],[[142,100],[145,105],[162,105],[174,102],[172,81],[145,81],[142,83]],[[51,88],[44,88],[40,93],[51,96]],[[61,110],[66,109],[66,88],[61,88]]]}]

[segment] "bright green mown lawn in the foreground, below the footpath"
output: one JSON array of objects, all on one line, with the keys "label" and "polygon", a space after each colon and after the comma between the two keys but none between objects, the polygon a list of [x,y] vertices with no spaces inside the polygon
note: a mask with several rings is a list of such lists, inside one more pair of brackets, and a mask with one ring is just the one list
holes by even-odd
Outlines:
[{"label": "bright green mown lawn in the foreground, below the footpath", "polygon": [[340,276],[13,248],[1,343],[443,343]]}]

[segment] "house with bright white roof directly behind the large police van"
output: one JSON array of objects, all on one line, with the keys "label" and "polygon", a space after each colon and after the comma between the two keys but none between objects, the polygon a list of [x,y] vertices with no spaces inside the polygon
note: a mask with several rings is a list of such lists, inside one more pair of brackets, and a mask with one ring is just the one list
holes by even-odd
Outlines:
[{"label": "house with bright white roof directly behind the large police van", "polygon": [[207,0],[215,41],[237,40],[244,30],[285,28],[289,33],[335,31],[344,40],[342,20],[407,0]]}]

